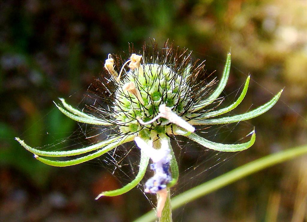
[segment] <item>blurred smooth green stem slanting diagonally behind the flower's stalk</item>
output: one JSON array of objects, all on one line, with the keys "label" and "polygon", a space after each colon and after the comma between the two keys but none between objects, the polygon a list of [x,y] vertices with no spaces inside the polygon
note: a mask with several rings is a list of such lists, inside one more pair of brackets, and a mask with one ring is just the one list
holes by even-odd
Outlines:
[{"label": "blurred smooth green stem slanting diagonally behind the flower's stalk", "polygon": [[[287,149],[278,153],[273,153],[268,156],[262,157],[258,160],[254,160],[250,163],[244,164],[228,173],[216,177],[215,179],[209,180],[199,186],[196,186],[190,190],[177,195],[172,199],[172,208],[177,209],[188,202],[191,202],[197,198],[200,198],[206,194],[209,194],[221,187],[227,186],[228,184],[235,182],[247,175],[251,175],[257,171],[273,166],[275,164],[282,163],[286,160],[291,160],[295,157],[307,154],[307,145],[301,145],[295,148]],[[154,221],[155,213],[150,211],[143,216],[139,217],[134,222],[145,222]]]}]

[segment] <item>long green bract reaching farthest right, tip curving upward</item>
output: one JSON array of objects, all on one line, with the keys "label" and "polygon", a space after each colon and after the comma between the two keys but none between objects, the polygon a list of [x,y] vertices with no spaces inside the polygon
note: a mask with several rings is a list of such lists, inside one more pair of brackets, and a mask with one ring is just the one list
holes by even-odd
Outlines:
[{"label": "long green bract reaching farthest right, tip curving upward", "polygon": [[223,117],[219,119],[206,119],[206,120],[192,120],[190,121],[193,125],[217,125],[217,124],[228,124],[232,122],[240,122],[248,119],[252,119],[256,116],[259,116],[266,111],[268,111],[270,108],[272,108],[275,103],[277,103],[280,95],[282,94],[282,90],[278,92],[269,102],[266,104],[243,114],[230,116],[230,117]]}]

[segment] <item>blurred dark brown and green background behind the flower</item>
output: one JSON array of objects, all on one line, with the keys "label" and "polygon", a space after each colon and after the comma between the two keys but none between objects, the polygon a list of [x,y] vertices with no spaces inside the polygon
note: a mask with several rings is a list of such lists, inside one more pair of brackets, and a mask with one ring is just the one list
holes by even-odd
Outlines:
[{"label": "blurred dark brown and green background behind the flower", "polygon": [[[20,136],[33,147],[55,147],[61,141],[57,149],[86,145],[80,134],[63,140],[79,132],[80,125],[52,100],[70,96],[68,101],[82,108],[107,54],[127,52],[128,43],[141,49],[154,38],[162,47],[169,39],[193,50],[194,58],[206,59],[207,72],[217,70],[218,77],[231,48],[224,93],[229,103],[248,73],[252,78],[233,113],[255,108],[285,87],[267,113],[240,127],[225,126],[232,132],[228,142],[255,126],[257,140],[249,150],[226,156],[180,152],[183,179],[175,195],[259,157],[307,143],[306,1],[2,0],[0,8],[1,221],[131,221],[152,209],[154,199],[147,200],[140,189],[94,200],[102,190],[128,182],[112,175],[109,164],[97,160],[50,167],[14,140]],[[174,221],[306,221],[306,169],[306,156],[270,167],[174,211]]]}]

